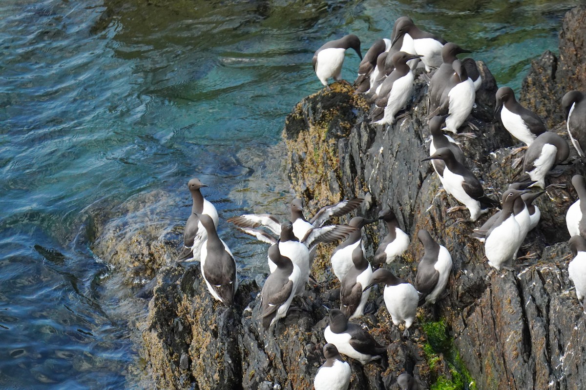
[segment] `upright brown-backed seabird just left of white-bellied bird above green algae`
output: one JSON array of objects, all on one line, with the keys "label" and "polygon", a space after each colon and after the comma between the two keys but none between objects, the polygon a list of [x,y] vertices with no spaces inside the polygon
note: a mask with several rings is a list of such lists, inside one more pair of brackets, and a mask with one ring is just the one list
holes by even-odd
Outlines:
[{"label": "upright brown-backed seabird just left of white-bellied bird above green algae", "polygon": [[340,287],[340,310],[347,319],[362,317],[364,314],[371,281],[372,267],[364,257],[362,248],[357,246],[352,252],[352,267],[344,275]]}]

